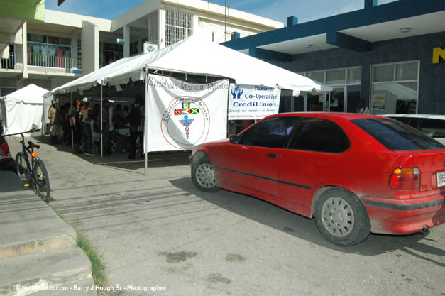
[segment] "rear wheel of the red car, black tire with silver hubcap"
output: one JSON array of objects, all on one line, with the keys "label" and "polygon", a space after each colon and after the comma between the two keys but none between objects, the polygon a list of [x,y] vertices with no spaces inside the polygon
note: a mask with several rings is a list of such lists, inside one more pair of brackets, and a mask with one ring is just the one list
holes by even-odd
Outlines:
[{"label": "rear wheel of the red car, black tire with silver hubcap", "polygon": [[325,239],[339,246],[353,246],[370,234],[370,220],[363,204],[351,192],[330,189],[319,198],[317,226]]}]

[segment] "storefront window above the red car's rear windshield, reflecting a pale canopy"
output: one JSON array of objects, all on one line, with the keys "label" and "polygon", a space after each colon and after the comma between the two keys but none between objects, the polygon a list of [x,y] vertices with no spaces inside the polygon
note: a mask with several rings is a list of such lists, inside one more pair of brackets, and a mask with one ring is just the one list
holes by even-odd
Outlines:
[{"label": "storefront window above the red car's rear windshield, reflecting a pale canopy", "polygon": [[419,62],[373,66],[372,114],[417,113]]}]

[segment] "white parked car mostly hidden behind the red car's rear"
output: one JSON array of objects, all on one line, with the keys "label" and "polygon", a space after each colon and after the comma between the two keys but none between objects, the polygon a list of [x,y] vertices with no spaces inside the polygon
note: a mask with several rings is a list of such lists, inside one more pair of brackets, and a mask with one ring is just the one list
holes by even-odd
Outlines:
[{"label": "white parked car mostly hidden behind the red car's rear", "polygon": [[404,124],[417,128],[419,131],[426,133],[427,136],[435,138],[437,141],[445,145],[445,116],[432,114],[383,114],[382,116],[390,117],[402,121]]}]

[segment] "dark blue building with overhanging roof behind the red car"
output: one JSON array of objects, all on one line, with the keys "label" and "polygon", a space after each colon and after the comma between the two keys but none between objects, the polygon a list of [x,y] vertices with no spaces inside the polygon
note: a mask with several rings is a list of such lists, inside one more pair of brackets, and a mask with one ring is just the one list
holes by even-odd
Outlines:
[{"label": "dark blue building with overhanging roof behind the red car", "polygon": [[223,43],[334,87],[280,111],[445,114],[445,1],[399,0]]}]

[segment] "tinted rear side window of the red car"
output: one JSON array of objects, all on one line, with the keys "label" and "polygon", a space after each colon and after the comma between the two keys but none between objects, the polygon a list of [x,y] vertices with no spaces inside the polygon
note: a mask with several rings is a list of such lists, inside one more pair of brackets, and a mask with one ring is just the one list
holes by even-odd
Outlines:
[{"label": "tinted rear side window of the red car", "polygon": [[334,121],[305,118],[292,136],[289,149],[342,153],[351,146],[346,133]]}]

